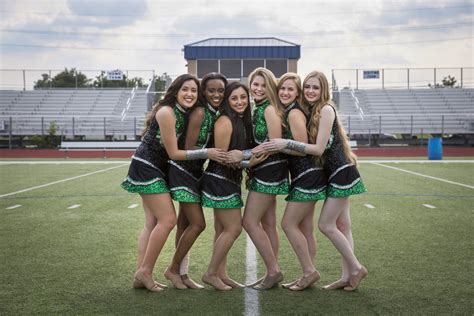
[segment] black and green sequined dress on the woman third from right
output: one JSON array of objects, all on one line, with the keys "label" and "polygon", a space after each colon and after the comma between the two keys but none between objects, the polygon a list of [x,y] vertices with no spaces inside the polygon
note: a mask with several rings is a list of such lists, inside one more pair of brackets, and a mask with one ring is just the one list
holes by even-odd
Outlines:
[{"label": "black and green sequined dress on the woman third from right", "polygon": [[[268,140],[268,128],[265,121],[265,109],[270,106],[268,100],[255,104],[252,114],[253,137],[257,144]],[[274,154],[265,161],[250,168],[249,190],[273,195],[288,194],[288,161],[284,154]]]}]

